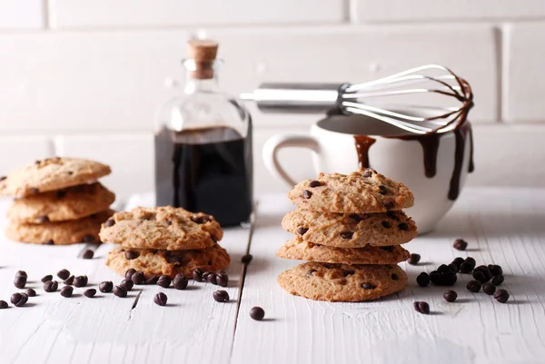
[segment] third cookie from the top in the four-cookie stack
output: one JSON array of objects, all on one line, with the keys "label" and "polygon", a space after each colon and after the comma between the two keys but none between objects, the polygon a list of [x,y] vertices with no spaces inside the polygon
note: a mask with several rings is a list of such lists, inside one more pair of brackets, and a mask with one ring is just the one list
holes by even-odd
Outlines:
[{"label": "third cookie from the top in the four-cookie stack", "polygon": [[397,264],[409,259],[409,251],[401,246],[365,248],[333,248],[294,238],[286,241],[276,256],[301,261],[320,261],[341,264]]}]

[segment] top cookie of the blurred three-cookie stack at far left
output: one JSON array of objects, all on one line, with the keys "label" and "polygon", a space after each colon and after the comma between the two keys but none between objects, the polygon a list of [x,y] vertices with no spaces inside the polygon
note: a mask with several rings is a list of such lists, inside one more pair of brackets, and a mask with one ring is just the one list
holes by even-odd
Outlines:
[{"label": "top cookie of the blurred three-cookie stack at far left", "polygon": [[112,172],[110,167],[81,158],[47,158],[0,177],[0,195],[26,197],[94,182]]}]

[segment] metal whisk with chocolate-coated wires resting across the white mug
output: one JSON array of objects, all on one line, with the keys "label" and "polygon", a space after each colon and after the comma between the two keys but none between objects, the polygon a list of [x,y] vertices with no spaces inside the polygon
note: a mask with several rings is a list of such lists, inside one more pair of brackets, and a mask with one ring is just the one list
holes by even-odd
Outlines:
[{"label": "metal whisk with chocolate-coated wires resting across the white mug", "polygon": [[[416,96],[418,104],[408,102],[410,95],[419,93],[434,93],[442,100],[434,98],[433,104],[423,104],[423,98]],[[456,128],[473,106],[471,85],[437,64],[422,65],[365,84],[267,83],[253,93],[241,94],[241,98],[255,101],[263,112],[359,113],[421,134],[445,133]],[[385,102],[386,98],[390,102]],[[460,104],[442,105],[445,101],[451,103],[452,98]],[[401,103],[391,102],[393,99],[401,99]]]}]

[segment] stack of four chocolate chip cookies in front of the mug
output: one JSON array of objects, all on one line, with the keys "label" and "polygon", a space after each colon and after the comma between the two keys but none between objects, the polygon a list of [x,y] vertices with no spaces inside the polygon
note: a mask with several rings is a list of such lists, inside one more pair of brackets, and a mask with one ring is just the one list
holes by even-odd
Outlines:
[{"label": "stack of four chocolate chip cookies in front of the mug", "polygon": [[412,193],[372,169],[349,175],[321,173],[288,194],[298,206],[282,227],[296,235],[276,253],[308,261],[284,271],[283,289],[312,300],[374,300],[402,290],[407,274],[397,263],[410,254],[401,244],[416,236],[403,208]]}]

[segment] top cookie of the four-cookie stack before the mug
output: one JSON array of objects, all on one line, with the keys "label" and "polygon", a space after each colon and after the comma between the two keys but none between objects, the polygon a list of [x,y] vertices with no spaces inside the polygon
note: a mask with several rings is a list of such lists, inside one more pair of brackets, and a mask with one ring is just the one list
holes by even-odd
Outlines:
[{"label": "top cookie of the four-cookie stack before the mug", "polygon": [[292,203],[316,212],[387,212],[411,207],[412,192],[366,168],[348,175],[320,173],[316,180],[298,183],[288,193]]}]

